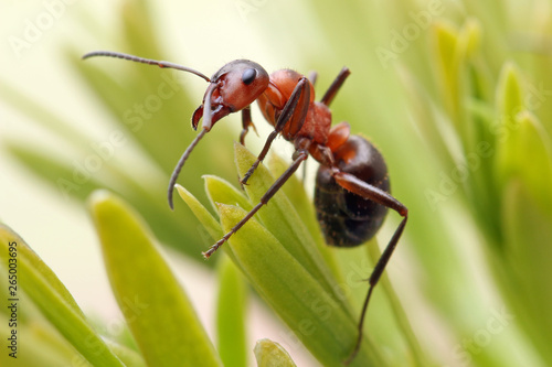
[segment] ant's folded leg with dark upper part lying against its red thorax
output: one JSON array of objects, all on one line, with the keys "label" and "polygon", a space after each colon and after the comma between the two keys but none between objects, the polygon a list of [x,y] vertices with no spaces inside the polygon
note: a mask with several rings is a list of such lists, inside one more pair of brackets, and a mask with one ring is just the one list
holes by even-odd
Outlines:
[{"label": "ant's folded leg with dark upper part lying against its red thorax", "polygon": [[257,160],[255,161],[255,163],[253,163],[251,169],[245,173],[242,181],[240,182],[242,185],[245,185],[247,183],[247,180],[250,180],[251,175],[253,174],[253,172],[255,172],[258,164],[263,162],[263,160],[265,159],[274,139],[276,139],[278,133],[280,133],[282,130],[287,125],[289,125],[290,128],[293,129],[293,131],[290,131],[291,137],[295,136],[295,133],[297,133],[301,129],[302,123],[305,122],[305,118],[307,116],[309,101],[310,101],[310,86],[308,84],[307,78],[304,77],[297,83],[294,93],[291,93],[291,96],[289,97],[286,105],[282,109],[282,114],[278,117],[278,120],[276,121],[275,129],[273,132],[270,132],[270,134],[266,139],[265,145],[263,147],[263,150],[258,154]]}]

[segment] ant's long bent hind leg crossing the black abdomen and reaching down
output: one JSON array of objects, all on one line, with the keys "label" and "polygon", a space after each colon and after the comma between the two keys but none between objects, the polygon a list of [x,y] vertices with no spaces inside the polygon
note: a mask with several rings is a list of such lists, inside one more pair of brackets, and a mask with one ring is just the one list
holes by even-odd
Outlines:
[{"label": "ant's long bent hind leg crossing the black abdomen and reaching down", "polygon": [[385,267],[388,266],[389,260],[391,259],[391,256],[393,255],[393,251],[396,247],[396,244],[399,242],[399,239],[401,238],[401,235],[403,234],[404,227],[406,226],[406,220],[408,219],[408,209],[396,198],[394,198],[391,194],[388,192],[384,192],[383,190],[380,190],[375,186],[372,186],[362,180],[357,179],[354,175],[341,172],[339,170],[336,170],[333,177],[336,179],[337,183],[357,194],[360,195],[364,198],[371,199],[378,204],[381,204],[385,207],[389,207],[396,213],[399,213],[402,217],[403,220],[401,224],[399,224],[399,227],[396,227],[395,233],[393,234],[393,237],[391,237],[391,240],[389,241],[388,246],[385,247],[385,250],[381,255],[380,259],[375,263],[374,270],[372,271],[372,274],[370,276],[369,279],[369,289],[368,289],[368,294],[364,300],[364,304],[362,305],[362,311],[360,314],[360,321],[359,321],[359,336],[357,337],[357,344],[354,345],[353,350],[344,361],[346,365],[349,365],[357,354],[359,353],[360,349],[360,343],[362,342],[362,328],[364,325],[364,316],[367,314],[368,310],[368,304],[370,302],[370,298],[372,296],[372,291],[374,290],[375,285],[380,281],[380,278],[385,270]]}]

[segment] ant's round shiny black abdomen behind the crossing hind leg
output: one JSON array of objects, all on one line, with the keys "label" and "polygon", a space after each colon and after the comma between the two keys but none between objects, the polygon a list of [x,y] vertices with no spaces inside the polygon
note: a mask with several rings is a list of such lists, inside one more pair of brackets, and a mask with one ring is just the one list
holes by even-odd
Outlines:
[{"label": "ant's round shiny black abdomen behind the crossing hind leg", "polygon": [[[380,152],[364,138],[351,136],[333,152],[337,166],[365,183],[390,192],[388,168]],[[341,187],[330,174],[318,169],[315,206],[328,245],[358,246],[380,229],[388,208]]]}]

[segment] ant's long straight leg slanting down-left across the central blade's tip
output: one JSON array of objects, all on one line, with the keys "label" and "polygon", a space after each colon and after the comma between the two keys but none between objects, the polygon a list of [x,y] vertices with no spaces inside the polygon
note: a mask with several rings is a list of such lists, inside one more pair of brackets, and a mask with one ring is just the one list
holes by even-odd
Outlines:
[{"label": "ant's long straight leg slanting down-left across the central blade's tip", "polygon": [[278,192],[278,190],[286,183],[287,180],[289,180],[289,177],[295,173],[295,171],[297,171],[299,165],[301,165],[302,161],[305,161],[308,156],[309,155],[308,155],[307,150],[305,150],[305,149],[297,150],[294,153],[295,160],[291,163],[291,165],[266,191],[266,193],[263,195],[263,197],[261,197],[258,204],[255,205],[251,209],[251,212],[247,213],[247,215],[245,217],[243,217],[243,219],[240,220],[226,235],[224,235],[224,237],[222,237],[216,244],[211,246],[211,248],[209,250],[203,252],[203,256],[205,257],[205,259],[209,259],[209,257],[211,255],[213,255],[213,252],[216,251],[219,249],[219,247],[221,247],[233,234],[235,234],[240,228],[242,228],[242,226],[244,224],[246,224],[247,220],[250,220],[255,215],[255,213],[257,213],[258,209],[261,209],[261,207],[263,205],[268,203],[268,201],[274,196],[274,194],[276,194]]}]

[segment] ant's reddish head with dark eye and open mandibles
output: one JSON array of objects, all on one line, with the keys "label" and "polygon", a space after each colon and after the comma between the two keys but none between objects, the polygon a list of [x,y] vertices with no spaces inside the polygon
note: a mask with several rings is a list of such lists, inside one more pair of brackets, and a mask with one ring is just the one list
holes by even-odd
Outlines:
[{"label": "ant's reddish head with dark eye and open mandibles", "polygon": [[268,73],[248,60],[236,60],[224,65],[211,77],[203,104],[192,116],[192,127],[198,128],[203,117],[203,128],[211,127],[223,117],[250,106],[268,87]]}]

